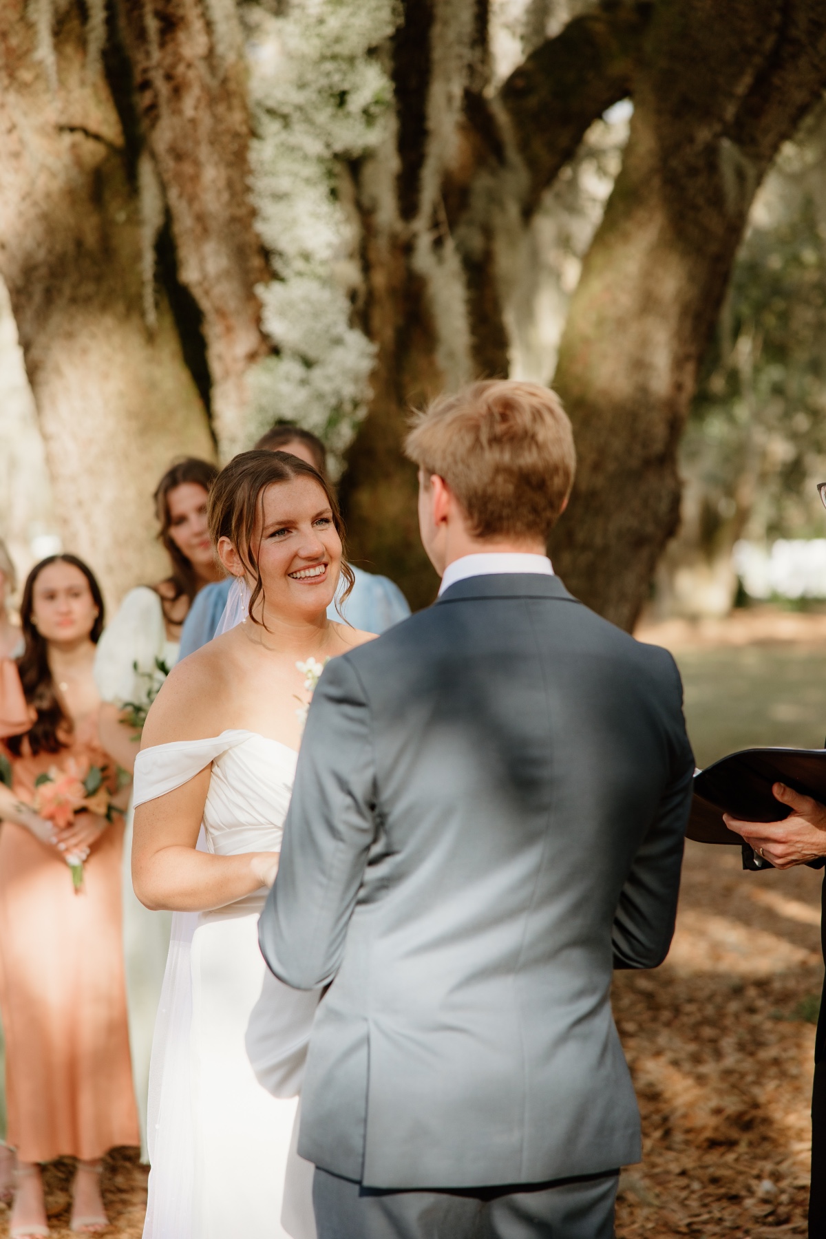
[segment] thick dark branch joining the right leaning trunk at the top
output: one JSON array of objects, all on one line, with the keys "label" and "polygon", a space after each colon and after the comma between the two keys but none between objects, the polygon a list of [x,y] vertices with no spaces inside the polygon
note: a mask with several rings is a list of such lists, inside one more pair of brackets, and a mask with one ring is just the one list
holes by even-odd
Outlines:
[{"label": "thick dark branch joining the right leaning trunk at the top", "polygon": [[526,214],[572,159],[588,125],[632,93],[650,10],[650,4],[606,4],[575,17],[503,84],[499,98],[530,176]]}]

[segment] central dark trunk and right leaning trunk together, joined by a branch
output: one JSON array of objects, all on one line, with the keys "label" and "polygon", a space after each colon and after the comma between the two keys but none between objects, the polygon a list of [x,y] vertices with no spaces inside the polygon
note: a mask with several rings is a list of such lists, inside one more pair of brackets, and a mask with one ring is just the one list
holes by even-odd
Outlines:
[{"label": "central dark trunk and right leaning trunk together, joined by a branch", "polygon": [[[393,195],[374,192],[381,209],[363,212],[368,330],[380,353],[344,479],[357,558],[400,580],[415,605],[432,597],[400,450],[411,399],[508,373],[498,230],[514,214],[530,219],[591,123],[632,95],[623,169],[555,377],[580,466],[551,548],[573,592],[630,628],[676,527],[676,449],[754,191],[826,87],[826,10],[817,0],[604,4],[536,48],[490,99],[487,9],[467,0],[461,105],[446,115],[436,105],[443,7],[405,5],[396,144],[384,155],[400,172]],[[379,216],[395,228],[384,248],[373,243]],[[425,235],[431,259],[440,248],[453,259],[452,318],[447,264],[422,263]]]}]

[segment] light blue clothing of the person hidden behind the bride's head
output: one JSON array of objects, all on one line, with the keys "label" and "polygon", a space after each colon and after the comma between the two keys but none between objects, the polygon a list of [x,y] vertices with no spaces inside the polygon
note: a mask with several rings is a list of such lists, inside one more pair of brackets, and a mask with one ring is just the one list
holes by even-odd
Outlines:
[{"label": "light blue clothing of the person hidden behind the bride's head", "polygon": [[[360,628],[362,632],[374,632],[378,636],[391,628],[394,623],[407,618],[410,615],[407,600],[389,577],[375,576],[360,567],[354,567],[353,575],[355,585],[347,602],[342,606],[342,615],[336,610],[336,603],[331,602],[327,610],[331,620],[344,618],[354,628]],[[198,592],[181,631],[181,658],[193,654],[196,649],[201,649],[215,636],[232,582],[233,577],[228,576],[214,585],[206,585]],[[343,585],[339,589],[343,589]]]}]

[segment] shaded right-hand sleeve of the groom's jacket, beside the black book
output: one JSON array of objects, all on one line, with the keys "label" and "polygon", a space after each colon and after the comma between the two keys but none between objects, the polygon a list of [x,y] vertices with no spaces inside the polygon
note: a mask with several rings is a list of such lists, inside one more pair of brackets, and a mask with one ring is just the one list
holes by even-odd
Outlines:
[{"label": "shaded right-hand sleeve of the groom's jacket, beside the black book", "polygon": [[618,969],[656,968],[667,955],[674,937],[695,763],[682,717],[680,673],[674,659],[667,658],[672,684],[669,781],[617,904],[612,943]]}]

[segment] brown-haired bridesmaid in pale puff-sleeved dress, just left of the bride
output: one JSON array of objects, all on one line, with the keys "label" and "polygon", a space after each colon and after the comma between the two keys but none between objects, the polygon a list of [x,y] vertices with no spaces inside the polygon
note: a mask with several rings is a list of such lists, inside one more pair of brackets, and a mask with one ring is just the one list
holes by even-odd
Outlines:
[{"label": "brown-haired bridesmaid in pale puff-sleeved dress, just left of the bride", "polygon": [[[189,457],[167,470],[155,492],[159,539],[170,556],[170,575],[131,590],[104,632],[94,676],[104,701],[100,740],[130,773],[146,711],[178,659],[181,627],[196,595],[223,574],[207,530],[207,496],[217,468]],[[133,891],[131,813],[124,843],[124,950],[129,1037],[135,1095],[146,1157],[146,1097],[155,1016],[170,945],[171,913],[150,912]]]}]

